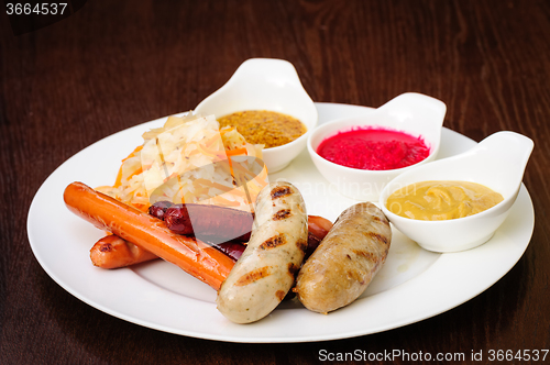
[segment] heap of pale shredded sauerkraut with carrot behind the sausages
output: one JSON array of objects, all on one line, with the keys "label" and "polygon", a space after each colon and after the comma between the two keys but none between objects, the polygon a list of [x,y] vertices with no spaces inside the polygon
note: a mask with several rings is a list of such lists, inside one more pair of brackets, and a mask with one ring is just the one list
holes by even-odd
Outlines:
[{"label": "heap of pale shredded sauerkraut with carrot behind the sausages", "polygon": [[161,200],[252,210],[268,182],[263,145],[248,143],[213,115],[169,117],[143,134],[143,144],[122,161],[113,186],[97,188],[146,211]]}]

